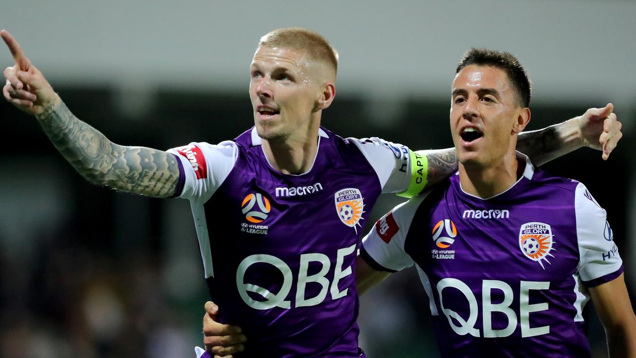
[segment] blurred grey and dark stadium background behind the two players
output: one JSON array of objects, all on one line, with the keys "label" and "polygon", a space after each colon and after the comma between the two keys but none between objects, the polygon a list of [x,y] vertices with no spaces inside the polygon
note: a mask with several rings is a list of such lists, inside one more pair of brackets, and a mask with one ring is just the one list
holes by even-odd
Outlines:
[{"label": "blurred grey and dark stadium background behind the two players", "polygon": [[[278,27],[318,31],[340,52],[323,125],[413,149],[452,147],[464,51],[511,52],[534,81],[529,129],[616,105],[625,137],[609,161],[584,148],[544,167],[586,183],[607,210],[634,297],[635,15],[630,0],[3,0],[0,28],[77,117],[116,143],[159,149],[251,127],[249,63]],[[0,47],[0,66],[13,66]],[[188,202],[90,185],[34,118],[4,101],[0,118],[0,357],[193,357],[207,293]],[[400,201],[382,196],[368,224]],[[415,270],[392,275],[361,298],[361,347],[436,357],[429,315]],[[593,311],[589,336],[603,357]]]}]

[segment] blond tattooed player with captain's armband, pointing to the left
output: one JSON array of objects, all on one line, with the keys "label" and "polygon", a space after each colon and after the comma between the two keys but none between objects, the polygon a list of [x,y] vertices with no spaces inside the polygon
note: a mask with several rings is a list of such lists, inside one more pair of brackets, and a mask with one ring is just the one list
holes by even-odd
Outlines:
[{"label": "blond tattooed player with captain's armband, pointing to the left", "polygon": [[[363,355],[353,275],[361,223],[381,192],[418,194],[455,168],[455,155],[417,154],[322,128],[338,59],[326,39],[297,28],[263,36],[250,68],[254,127],[218,145],[163,151],[117,145],[78,120],[17,41],[8,32],[2,37],[16,62],[4,71],[4,96],[36,115],[81,175],[126,192],[190,200],[209,291],[223,306],[219,320],[242,326],[252,356]],[[580,135],[584,128],[588,136]],[[588,142],[607,157],[617,128],[609,112],[584,115],[549,129],[550,140],[530,134],[535,144],[528,147],[546,160]],[[546,142],[554,150],[539,145]]]}]

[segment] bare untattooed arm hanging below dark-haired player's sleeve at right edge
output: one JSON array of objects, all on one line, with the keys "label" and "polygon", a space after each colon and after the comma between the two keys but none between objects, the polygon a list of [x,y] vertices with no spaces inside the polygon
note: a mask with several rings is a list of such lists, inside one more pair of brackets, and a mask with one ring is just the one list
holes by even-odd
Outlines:
[{"label": "bare untattooed arm hanging below dark-haired player's sleeve at right edge", "polygon": [[609,356],[636,357],[636,316],[627,294],[624,274],[589,290],[594,308],[605,327]]}]

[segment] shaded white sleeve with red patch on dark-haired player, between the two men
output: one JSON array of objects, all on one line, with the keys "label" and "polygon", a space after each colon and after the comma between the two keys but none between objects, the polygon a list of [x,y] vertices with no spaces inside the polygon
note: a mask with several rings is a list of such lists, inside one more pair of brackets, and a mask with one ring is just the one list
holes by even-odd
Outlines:
[{"label": "shaded white sleeve with red patch on dark-haired player, between the two men", "polygon": [[404,242],[415,211],[429,193],[430,190],[397,205],[364,236],[361,255],[369,266],[389,272],[413,266],[413,259],[404,250]]}]

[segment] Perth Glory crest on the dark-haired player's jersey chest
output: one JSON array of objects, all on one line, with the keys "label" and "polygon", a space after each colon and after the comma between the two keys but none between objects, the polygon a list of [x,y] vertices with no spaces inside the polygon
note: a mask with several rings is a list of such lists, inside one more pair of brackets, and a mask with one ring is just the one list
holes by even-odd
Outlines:
[{"label": "Perth Glory crest on the dark-haired player's jersey chest", "polygon": [[550,264],[548,256],[554,257],[550,253],[554,250],[552,238],[550,225],[543,222],[528,222],[523,224],[519,231],[519,247],[525,257],[539,262],[541,268],[546,269],[543,261]]}]

